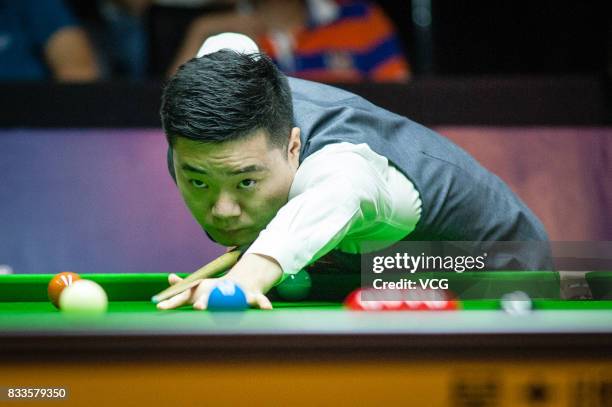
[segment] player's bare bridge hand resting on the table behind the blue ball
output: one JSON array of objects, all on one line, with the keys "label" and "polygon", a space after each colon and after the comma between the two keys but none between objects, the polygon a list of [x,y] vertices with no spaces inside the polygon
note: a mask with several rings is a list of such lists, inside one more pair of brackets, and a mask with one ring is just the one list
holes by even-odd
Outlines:
[{"label": "player's bare bridge hand resting on the table behind the blue ball", "polygon": [[[238,284],[244,290],[250,306],[260,309],[272,309],[272,303],[265,296],[265,293],[272,288],[281,276],[282,270],[274,260],[257,254],[247,254],[225,276],[203,280],[197,286],[160,302],[157,304],[157,308],[167,310],[192,304],[194,309],[206,309],[208,296],[215,287],[215,284],[219,280],[228,279]],[[168,283],[170,285],[174,285],[181,280],[176,274],[168,276]]]}]

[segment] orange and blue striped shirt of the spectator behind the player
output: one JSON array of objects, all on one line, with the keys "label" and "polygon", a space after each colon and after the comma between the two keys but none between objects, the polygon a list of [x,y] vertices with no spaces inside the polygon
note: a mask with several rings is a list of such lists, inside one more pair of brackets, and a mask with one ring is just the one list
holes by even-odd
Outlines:
[{"label": "orange and blue striped shirt of the spectator behind the player", "polygon": [[268,33],[260,48],[290,76],[315,81],[405,81],[410,69],[393,25],[366,1],[310,0],[308,24]]}]

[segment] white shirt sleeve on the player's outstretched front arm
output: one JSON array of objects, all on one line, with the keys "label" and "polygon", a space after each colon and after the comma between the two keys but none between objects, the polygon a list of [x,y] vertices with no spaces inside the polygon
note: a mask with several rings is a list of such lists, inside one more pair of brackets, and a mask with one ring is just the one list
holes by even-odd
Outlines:
[{"label": "white shirt sleeve on the player's outstretched front arm", "polygon": [[365,145],[339,144],[304,160],[289,201],[247,253],[272,257],[284,274],[296,273],[391,214],[387,160]]}]

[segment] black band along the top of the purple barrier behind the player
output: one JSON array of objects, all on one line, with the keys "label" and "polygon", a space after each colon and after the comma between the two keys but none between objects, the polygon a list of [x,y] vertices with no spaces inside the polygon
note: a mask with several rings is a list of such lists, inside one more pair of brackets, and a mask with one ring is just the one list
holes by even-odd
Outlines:
[{"label": "black band along the top of the purple barrier behind the player", "polygon": [[[160,127],[161,82],[1,84],[1,127]],[[604,81],[592,76],[457,77],[338,84],[426,125],[602,125]]]}]

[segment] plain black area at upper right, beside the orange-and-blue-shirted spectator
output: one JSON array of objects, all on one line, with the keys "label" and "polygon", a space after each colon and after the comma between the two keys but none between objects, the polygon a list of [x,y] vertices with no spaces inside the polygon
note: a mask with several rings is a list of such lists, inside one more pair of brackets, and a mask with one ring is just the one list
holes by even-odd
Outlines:
[{"label": "plain black area at upper right, beside the orange-and-blue-shirted spectator", "polygon": [[[605,1],[377,2],[394,21],[417,74],[609,75],[612,18]],[[413,22],[419,4],[431,6],[428,27]]]}]

